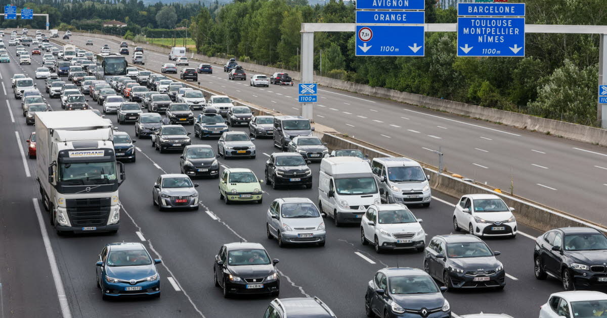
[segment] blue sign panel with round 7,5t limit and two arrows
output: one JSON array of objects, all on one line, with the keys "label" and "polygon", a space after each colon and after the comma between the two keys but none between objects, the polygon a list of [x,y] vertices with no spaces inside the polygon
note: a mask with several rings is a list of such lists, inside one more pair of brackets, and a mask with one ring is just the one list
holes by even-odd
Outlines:
[{"label": "blue sign panel with round 7,5t limit and two arrows", "polygon": [[356,56],[424,56],[422,25],[356,25]]}]

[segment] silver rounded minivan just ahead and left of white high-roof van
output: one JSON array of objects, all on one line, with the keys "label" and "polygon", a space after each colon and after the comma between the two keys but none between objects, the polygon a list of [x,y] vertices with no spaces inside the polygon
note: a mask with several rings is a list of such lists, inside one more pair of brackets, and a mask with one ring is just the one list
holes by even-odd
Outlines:
[{"label": "silver rounded minivan just ahead and left of white high-roof van", "polygon": [[325,246],[325,222],[312,200],[307,197],[276,199],[266,216],[268,239],[276,237],[279,247],[287,244],[315,243]]}]

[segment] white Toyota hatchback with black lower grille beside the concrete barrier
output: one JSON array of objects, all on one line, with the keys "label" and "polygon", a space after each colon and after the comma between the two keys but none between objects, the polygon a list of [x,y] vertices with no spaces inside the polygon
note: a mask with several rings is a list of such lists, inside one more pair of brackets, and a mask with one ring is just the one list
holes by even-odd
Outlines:
[{"label": "white Toyota hatchback with black lower grille beside the concrete barrier", "polygon": [[495,194],[467,194],[453,211],[453,230],[469,231],[476,236],[517,236],[517,220]]}]

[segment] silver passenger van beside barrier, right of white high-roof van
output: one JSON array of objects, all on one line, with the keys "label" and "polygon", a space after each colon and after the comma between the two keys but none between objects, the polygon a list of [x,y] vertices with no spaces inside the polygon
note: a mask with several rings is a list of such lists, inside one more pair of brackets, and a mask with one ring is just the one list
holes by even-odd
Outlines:
[{"label": "silver passenger van beside barrier, right of white high-roof van", "polygon": [[371,170],[383,202],[430,206],[430,175],[424,175],[419,162],[405,157],[373,158]]}]

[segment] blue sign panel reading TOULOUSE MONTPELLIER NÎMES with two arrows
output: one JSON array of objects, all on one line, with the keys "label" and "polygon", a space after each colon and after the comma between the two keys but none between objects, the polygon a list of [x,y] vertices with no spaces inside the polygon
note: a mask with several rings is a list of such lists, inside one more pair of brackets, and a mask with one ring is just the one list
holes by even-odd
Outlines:
[{"label": "blue sign panel reading TOULOUSE MONTPELLIER N\u00ceMES with two arrows", "polygon": [[525,56],[525,18],[457,19],[457,56]]}]

